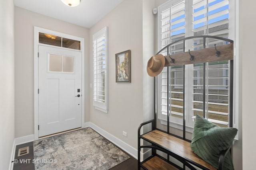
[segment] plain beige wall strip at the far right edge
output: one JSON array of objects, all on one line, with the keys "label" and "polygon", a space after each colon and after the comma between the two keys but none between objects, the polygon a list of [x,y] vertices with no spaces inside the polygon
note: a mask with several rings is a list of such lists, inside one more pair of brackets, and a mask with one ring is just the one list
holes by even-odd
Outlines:
[{"label": "plain beige wall strip at the far right edge", "polygon": [[240,0],[240,56],[242,57],[242,134],[243,170],[255,169],[256,141],[255,103],[256,103],[256,54],[255,40],[256,2]]}]

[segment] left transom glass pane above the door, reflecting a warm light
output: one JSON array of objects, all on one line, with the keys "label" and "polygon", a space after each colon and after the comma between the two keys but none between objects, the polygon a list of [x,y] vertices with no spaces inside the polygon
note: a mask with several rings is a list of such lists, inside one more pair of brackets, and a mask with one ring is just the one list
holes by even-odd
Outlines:
[{"label": "left transom glass pane above the door, reflecting a warm light", "polygon": [[39,33],[39,43],[61,47],[61,37],[46,33]]}]

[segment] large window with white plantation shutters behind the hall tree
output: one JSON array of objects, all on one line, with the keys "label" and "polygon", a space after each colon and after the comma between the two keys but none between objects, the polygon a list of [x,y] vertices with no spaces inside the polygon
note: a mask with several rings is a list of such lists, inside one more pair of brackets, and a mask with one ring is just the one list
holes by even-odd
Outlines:
[{"label": "large window with white plantation shutters behind the hall tree", "polygon": [[[158,50],[184,37],[214,35],[230,38],[229,18],[234,14],[230,14],[229,3],[229,0],[171,0],[159,6]],[[171,57],[188,49],[193,51],[226,43],[207,38],[204,46],[202,38],[195,38],[186,43],[186,49],[180,41],[169,51],[162,51],[162,55]],[[205,107],[206,119],[221,127],[230,126],[229,73],[229,61],[205,63],[205,67],[203,63],[164,67],[158,75],[158,118],[161,123],[167,124],[166,117],[170,116],[170,126],[182,129],[185,116],[186,130],[192,132],[193,118],[196,114],[204,115]],[[205,88],[203,74],[206,77]],[[205,103],[203,94],[206,95]]]}]

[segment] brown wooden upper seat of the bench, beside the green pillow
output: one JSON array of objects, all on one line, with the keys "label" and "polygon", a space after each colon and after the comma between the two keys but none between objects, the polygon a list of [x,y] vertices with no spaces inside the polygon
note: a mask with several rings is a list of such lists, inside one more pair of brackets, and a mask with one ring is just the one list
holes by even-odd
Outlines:
[{"label": "brown wooden upper seat of the bench, beside the green pillow", "polygon": [[150,131],[149,133],[142,135],[142,137],[184,158],[187,162],[197,164],[197,166],[199,165],[198,167],[203,166],[209,170],[216,170],[216,168],[202,160],[192,151],[190,142],[188,141],[168,135],[159,130]]}]

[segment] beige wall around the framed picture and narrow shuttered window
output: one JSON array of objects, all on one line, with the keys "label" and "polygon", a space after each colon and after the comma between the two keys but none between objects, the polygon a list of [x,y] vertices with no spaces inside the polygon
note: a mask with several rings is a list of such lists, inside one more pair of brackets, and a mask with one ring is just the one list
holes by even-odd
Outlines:
[{"label": "beige wall around the framed picture and narrow shuttered window", "polygon": [[[90,28],[90,83],[92,83],[92,35],[109,30],[109,111],[94,109],[90,100],[90,121],[111,135],[137,148],[137,129],[143,116],[142,0],[124,0]],[[131,83],[116,83],[115,54],[131,50]],[[90,88],[92,99],[92,88]],[[127,132],[127,137],[122,135]]]}]

